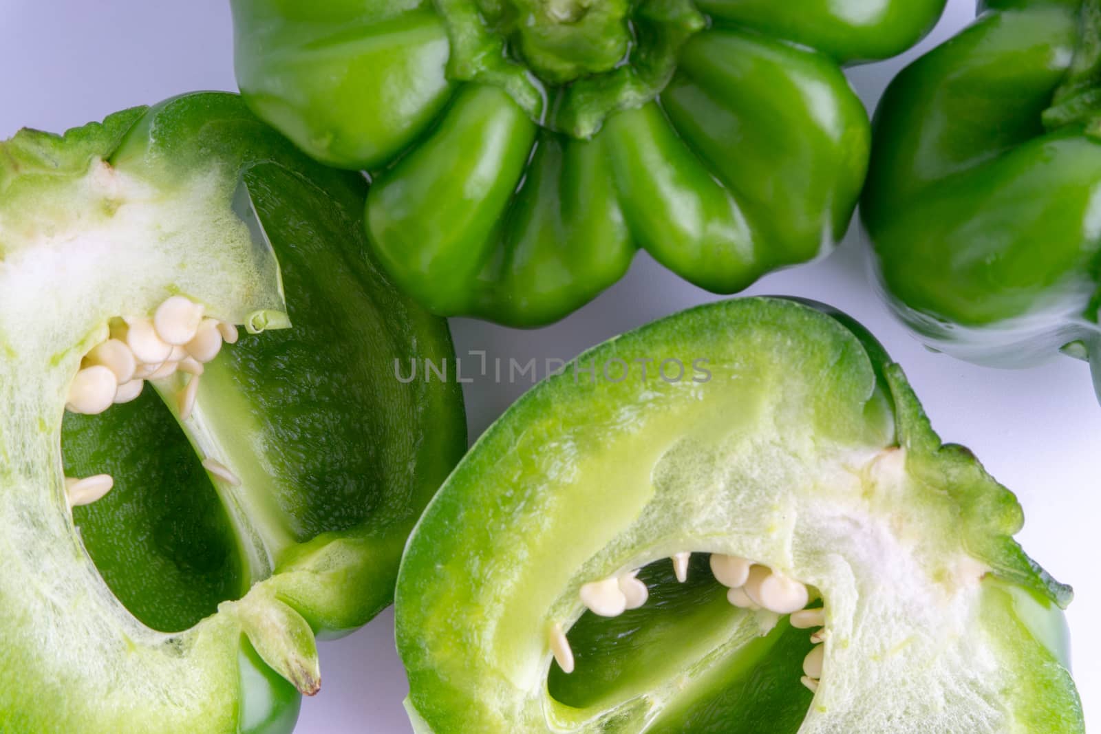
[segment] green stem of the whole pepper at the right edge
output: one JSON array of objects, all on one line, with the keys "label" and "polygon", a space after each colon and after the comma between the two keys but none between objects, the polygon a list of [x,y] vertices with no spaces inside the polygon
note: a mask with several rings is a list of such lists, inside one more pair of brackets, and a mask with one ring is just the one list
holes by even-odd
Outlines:
[{"label": "green stem of the whole pepper at the right edge", "polygon": [[1101,138],[1101,0],[1082,1],[1078,50],[1043,122],[1049,131],[1083,124],[1087,134]]}]

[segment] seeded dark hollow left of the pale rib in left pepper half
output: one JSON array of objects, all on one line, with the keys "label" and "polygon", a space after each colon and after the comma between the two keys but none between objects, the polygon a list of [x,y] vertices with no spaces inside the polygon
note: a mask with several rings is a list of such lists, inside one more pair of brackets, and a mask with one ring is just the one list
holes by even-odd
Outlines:
[{"label": "seeded dark hollow left of the pale rib in left pepper half", "polygon": [[[110,319],[97,336],[70,383],[62,427],[73,523],[135,617],[162,632],[186,629],[254,580],[220,496],[235,491],[236,475],[226,457],[201,456],[186,428],[200,419],[192,412],[205,368],[238,330],[173,296],[152,314]],[[160,395],[144,390],[154,380]]]}]

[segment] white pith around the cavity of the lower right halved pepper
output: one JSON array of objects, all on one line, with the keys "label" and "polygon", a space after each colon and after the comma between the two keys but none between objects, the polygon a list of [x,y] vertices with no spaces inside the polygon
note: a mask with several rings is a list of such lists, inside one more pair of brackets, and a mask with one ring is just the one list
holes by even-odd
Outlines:
[{"label": "white pith around the cavity of the lower right halved pepper", "polygon": [[[786,447],[784,452],[797,452]],[[588,569],[604,568],[604,581],[630,577],[634,569],[686,552],[708,552],[756,559],[760,565],[787,579],[798,579],[817,590],[829,610],[829,626],[814,629],[810,638],[818,647],[808,656],[807,669],[795,668],[793,678],[816,691],[800,732],[895,731],[891,716],[924,716],[928,731],[998,731],[1004,709],[995,705],[999,661],[986,646],[984,634],[975,633],[982,594],[981,579],[989,570],[969,556],[953,536],[956,507],[947,497],[931,500],[922,511],[911,499],[919,494],[905,470],[905,451],[896,448],[838,452],[833,463],[815,465],[806,479],[810,486],[797,491],[772,490],[731,497],[737,511],[717,508],[715,495],[686,491],[671,495],[680,514],[653,525],[647,518],[662,517],[669,506],[647,507],[643,516],[618,530],[623,540],[606,547],[606,558],[596,558],[575,570],[571,598],[566,596],[544,613],[547,631],[534,642],[542,649],[541,662],[528,669],[531,678],[513,678],[513,684],[528,690],[525,701],[537,709],[511,706],[512,721],[528,721],[547,731],[598,731],[602,724],[634,722],[645,731],[662,711],[675,706],[688,689],[688,680],[706,675],[712,659],[705,656],[679,681],[674,679],[644,691],[626,691],[621,704],[610,709],[579,711],[549,697],[546,675],[553,660],[563,670],[573,668],[566,632],[586,611],[579,589],[592,579]],[[782,460],[761,461],[780,467]],[[789,462],[788,462],[789,463]],[[720,461],[716,461],[721,465]],[[800,481],[774,478],[771,486],[799,486]],[[623,482],[632,482],[625,476]],[[707,480],[701,480],[707,481]],[[707,499],[698,508],[685,507],[685,499]],[[652,497],[650,504],[655,499]],[[923,501],[924,502],[924,501]],[[658,503],[661,504],[661,503]],[[731,521],[733,518],[733,521]],[[676,546],[650,545],[634,534],[683,523],[691,528]],[[576,532],[576,530],[575,530]],[[647,533],[647,534],[650,534]],[[618,555],[621,547],[643,546],[629,558]],[[609,568],[607,563],[613,566]],[[499,588],[499,587],[494,587]],[[612,585],[607,584],[607,589]],[[744,590],[744,587],[739,588]],[[508,593],[504,592],[504,598]],[[504,612],[508,618],[509,614]],[[826,624],[826,613],[807,610],[799,614],[799,628],[811,631]],[[819,618],[818,615],[821,615]],[[732,631],[728,640],[740,646],[774,628],[780,615],[766,610],[731,610]],[[744,620],[744,624],[737,622]],[[494,620],[488,621],[492,628]],[[492,631],[481,632],[492,645]],[[710,645],[721,646],[716,639]],[[493,649],[492,647],[490,649]],[[820,661],[819,661],[820,656]],[[568,664],[567,666],[563,662]],[[821,677],[808,675],[819,673]],[[890,701],[890,705],[884,705]],[[502,703],[504,700],[502,699]],[[632,712],[628,714],[626,712]],[[624,720],[623,715],[634,716]],[[531,719],[528,720],[528,716]],[[939,730],[937,727],[940,727]],[[924,731],[924,730],[923,730]]]}]

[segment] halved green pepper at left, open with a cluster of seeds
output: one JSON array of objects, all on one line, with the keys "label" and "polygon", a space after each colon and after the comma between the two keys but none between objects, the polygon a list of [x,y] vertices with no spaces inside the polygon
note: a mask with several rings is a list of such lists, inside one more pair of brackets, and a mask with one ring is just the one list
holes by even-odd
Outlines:
[{"label": "halved green pepper at left, open with a cluster of seeds", "polygon": [[227,94],[0,143],[0,730],[290,732],[390,603],[466,431],[366,188]]}]

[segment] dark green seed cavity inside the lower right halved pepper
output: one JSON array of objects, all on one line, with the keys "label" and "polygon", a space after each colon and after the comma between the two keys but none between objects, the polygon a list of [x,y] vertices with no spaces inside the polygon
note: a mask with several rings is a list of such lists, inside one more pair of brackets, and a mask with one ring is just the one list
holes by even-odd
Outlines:
[{"label": "dark green seed cavity inside the lower right halved pepper", "polygon": [[[684,676],[732,676],[701,687],[717,698],[754,676],[780,677],[794,698],[821,679],[828,633],[819,595],[766,565],[684,551],[595,579],[578,595],[586,613],[568,632],[562,622],[547,632],[548,693],[569,706],[614,706]],[[767,661],[772,649],[784,659]]]}]

